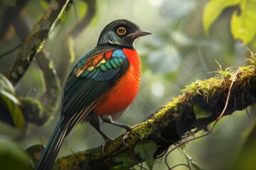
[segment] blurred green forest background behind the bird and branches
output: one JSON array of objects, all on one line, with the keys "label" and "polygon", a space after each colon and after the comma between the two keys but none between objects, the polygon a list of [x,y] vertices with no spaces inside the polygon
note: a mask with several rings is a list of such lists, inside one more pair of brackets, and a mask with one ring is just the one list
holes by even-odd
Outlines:
[{"label": "blurred green forest background behind the bird and branches", "polygon": [[[98,0],[95,1],[95,13],[92,14],[90,23],[80,29],[78,35],[70,40],[67,36],[69,31],[92,8],[85,1],[76,0],[55,27],[55,31],[49,35],[43,49],[48,60],[52,60],[51,64],[57,70],[60,89],[62,89],[65,77],[80,57],[95,47],[100,31],[107,23],[125,18],[153,33],[135,42],[135,47],[142,59],[142,84],[134,103],[119,120],[122,123],[134,125],[172,101],[172,98],[182,94],[181,89],[184,89],[184,86],[196,79],[214,77],[213,72],[220,69],[215,61],[218,61],[223,69],[227,67],[235,69],[242,66],[245,59],[250,56],[246,47],[256,52],[255,36],[253,40],[243,44],[240,40],[234,40],[231,34],[230,18],[238,6],[225,8],[210,26],[206,36],[202,21],[203,10],[207,3],[208,1],[203,0]],[[23,21],[21,26],[27,28],[21,29],[21,33],[17,31],[19,25],[14,24],[21,20],[16,21],[12,16],[14,13],[6,13],[9,8],[14,8],[16,5],[12,4],[12,1],[7,3],[1,1],[0,55],[20,45],[26,39],[29,31],[45,13],[48,1],[31,0],[21,4],[19,13]],[[26,30],[29,30],[28,33]],[[18,51],[19,48],[0,58],[2,74],[11,69]],[[46,77],[43,76],[40,64],[34,60],[21,81],[16,84],[15,96],[21,100],[28,97],[36,98],[43,103],[46,102],[43,100],[45,96],[42,97],[46,89]],[[58,123],[61,94],[62,92],[58,94],[54,115],[51,115],[44,125],[24,123],[23,130],[17,130],[14,126],[0,121],[0,140],[14,142],[22,149],[36,144],[46,145]],[[2,109],[0,108],[0,111],[3,111]],[[254,125],[254,109],[248,108],[247,111],[234,113],[222,118],[207,137],[189,142],[185,148],[186,153],[202,169],[245,168],[247,167],[243,165],[245,158],[256,159],[255,148],[247,154],[241,154]],[[120,128],[106,124],[102,125],[102,130],[111,137],[117,137],[124,132]],[[201,132],[198,132],[198,135],[201,135]],[[102,137],[90,125],[77,125],[66,137],[58,157],[98,147],[102,142]],[[240,155],[243,155],[244,159],[241,159]],[[168,162],[169,166],[183,164],[186,163],[186,157],[176,149],[169,154]],[[255,167],[255,163],[253,164],[250,167]],[[146,168],[146,165],[144,166]],[[139,169],[136,166],[135,168]],[[159,159],[154,169],[167,169],[164,159]],[[188,168],[178,166],[176,169]]]}]

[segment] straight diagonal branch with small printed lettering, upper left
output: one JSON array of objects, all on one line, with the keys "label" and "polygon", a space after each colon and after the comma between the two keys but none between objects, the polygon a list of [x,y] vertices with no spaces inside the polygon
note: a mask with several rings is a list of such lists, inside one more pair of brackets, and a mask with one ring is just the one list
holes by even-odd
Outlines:
[{"label": "straight diagonal branch with small printed lettering, upper left", "polygon": [[46,13],[43,15],[36,26],[31,30],[31,35],[22,43],[21,49],[18,52],[14,65],[11,70],[6,74],[6,77],[16,85],[18,81],[25,74],[28,69],[33,57],[43,47],[43,40],[48,36],[50,27],[55,22],[60,12],[68,4],[69,0],[55,0],[50,1]]}]

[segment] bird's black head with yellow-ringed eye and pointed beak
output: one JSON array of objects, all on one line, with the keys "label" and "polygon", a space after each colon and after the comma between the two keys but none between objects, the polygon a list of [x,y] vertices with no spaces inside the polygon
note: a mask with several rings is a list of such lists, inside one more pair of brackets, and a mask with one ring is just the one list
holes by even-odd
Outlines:
[{"label": "bird's black head with yellow-ringed eye and pointed beak", "polygon": [[139,26],[128,20],[116,20],[109,23],[100,33],[97,45],[123,45],[133,47],[134,40],[149,35],[149,31],[140,30]]}]

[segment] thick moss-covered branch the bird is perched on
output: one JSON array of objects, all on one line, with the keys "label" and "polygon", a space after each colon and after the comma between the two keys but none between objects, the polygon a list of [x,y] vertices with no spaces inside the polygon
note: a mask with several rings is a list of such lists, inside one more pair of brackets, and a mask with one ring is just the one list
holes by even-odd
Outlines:
[{"label": "thick moss-covered branch the bird is perched on", "polygon": [[[126,153],[135,164],[144,160],[135,154],[137,143],[152,140],[158,146],[154,157],[163,154],[171,145],[177,144],[184,138],[206,130],[207,125],[215,121],[223,112],[227,102],[228,91],[230,98],[223,115],[241,111],[256,102],[256,60],[252,55],[250,65],[239,67],[235,72],[231,69],[219,70],[218,75],[204,81],[197,80],[186,86],[183,94],[174,98],[148,120],[140,123],[127,137],[126,145],[122,136],[109,142],[105,147],[105,155],[101,147],[87,149],[70,154],[57,160],[59,169],[110,169],[117,166],[117,155]],[[235,78],[235,81],[233,79]],[[233,82],[233,86],[230,84]]]}]

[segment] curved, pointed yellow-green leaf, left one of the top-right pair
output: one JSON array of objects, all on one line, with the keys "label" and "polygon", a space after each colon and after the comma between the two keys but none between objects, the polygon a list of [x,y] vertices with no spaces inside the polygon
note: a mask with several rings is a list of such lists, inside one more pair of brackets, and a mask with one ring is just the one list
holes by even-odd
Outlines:
[{"label": "curved, pointed yellow-green leaf, left one of the top-right pair", "polygon": [[209,33],[210,26],[220,16],[225,8],[236,6],[242,0],[211,0],[203,10],[203,30],[206,35]]}]

